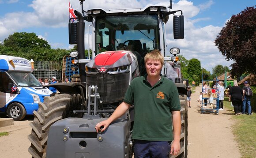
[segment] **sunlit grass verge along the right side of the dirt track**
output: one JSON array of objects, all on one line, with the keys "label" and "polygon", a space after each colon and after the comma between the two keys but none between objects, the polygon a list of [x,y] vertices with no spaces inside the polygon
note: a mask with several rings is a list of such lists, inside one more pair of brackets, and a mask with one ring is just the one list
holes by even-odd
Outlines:
[{"label": "sunlit grass verge along the right side of the dirt track", "polygon": [[[223,104],[225,109],[229,109],[228,111],[233,110],[233,107],[230,106],[231,102],[228,101],[227,97],[224,98]],[[233,115],[232,117],[233,120],[235,120],[232,132],[235,136],[235,141],[238,143],[238,147],[242,155],[241,158],[255,158],[256,113],[253,115]]]}]

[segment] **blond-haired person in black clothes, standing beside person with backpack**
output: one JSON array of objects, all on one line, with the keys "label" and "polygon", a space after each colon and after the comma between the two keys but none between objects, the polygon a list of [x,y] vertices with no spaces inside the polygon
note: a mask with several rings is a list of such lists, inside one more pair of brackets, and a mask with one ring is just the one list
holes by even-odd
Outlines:
[{"label": "blond-haired person in black clothes, standing beside person with backpack", "polygon": [[235,115],[240,115],[243,101],[243,90],[238,86],[237,80],[234,80],[234,86],[230,87],[229,101],[233,104]]}]

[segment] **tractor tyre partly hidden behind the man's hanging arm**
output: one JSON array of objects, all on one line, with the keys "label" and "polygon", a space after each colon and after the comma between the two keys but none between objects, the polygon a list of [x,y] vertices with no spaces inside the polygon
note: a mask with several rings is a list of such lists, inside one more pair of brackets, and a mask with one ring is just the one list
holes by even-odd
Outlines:
[{"label": "tractor tyre partly hidden behind the man's hanging arm", "polygon": [[181,102],[181,151],[178,155],[170,155],[169,158],[187,158],[188,157],[188,105],[187,97],[179,94]]}]

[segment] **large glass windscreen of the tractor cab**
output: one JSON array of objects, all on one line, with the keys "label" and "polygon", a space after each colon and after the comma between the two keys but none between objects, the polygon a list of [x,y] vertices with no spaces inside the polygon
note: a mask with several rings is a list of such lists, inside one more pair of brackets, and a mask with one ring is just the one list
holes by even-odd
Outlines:
[{"label": "large glass windscreen of the tractor cab", "polygon": [[136,51],[141,55],[159,49],[157,15],[99,16],[96,19],[96,53]]}]

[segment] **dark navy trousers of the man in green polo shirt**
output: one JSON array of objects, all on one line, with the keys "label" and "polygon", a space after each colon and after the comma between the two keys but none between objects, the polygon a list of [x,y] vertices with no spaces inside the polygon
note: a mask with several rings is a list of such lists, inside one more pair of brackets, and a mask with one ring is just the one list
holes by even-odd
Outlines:
[{"label": "dark navy trousers of the man in green polo shirt", "polygon": [[170,141],[133,141],[134,158],[169,158]]}]

